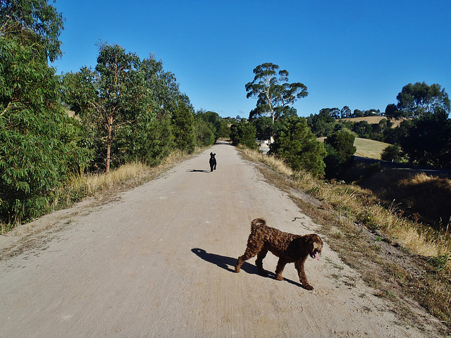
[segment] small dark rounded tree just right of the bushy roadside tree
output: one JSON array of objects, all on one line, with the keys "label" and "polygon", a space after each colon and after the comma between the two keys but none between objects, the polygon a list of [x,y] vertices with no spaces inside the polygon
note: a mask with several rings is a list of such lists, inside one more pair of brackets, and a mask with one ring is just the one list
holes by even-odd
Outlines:
[{"label": "small dark rounded tree just right of the bushy roadside tree", "polygon": [[352,165],[354,153],[357,150],[354,140],[354,134],[345,130],[334,132],[326,138],[324,144],[327,156],[324,162],[326,163],[327,178],[339,178]]}]

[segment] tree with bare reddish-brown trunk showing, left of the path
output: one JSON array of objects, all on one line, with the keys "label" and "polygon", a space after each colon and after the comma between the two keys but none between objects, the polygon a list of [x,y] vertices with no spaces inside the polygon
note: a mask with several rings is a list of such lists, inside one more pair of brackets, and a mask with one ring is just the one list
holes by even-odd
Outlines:
[{"label": "tree with bare reddish-brown trunk showing, left of the path", "polygon": [[134,150],[131,136],[138,117],[154,114],[140,57],[117,44],[103,44],[94,70],[84,67],[64,75],[62,82],[63,101],[80,115],[97,161],[103,158],[109,173],[111,160],[120,162]]}]

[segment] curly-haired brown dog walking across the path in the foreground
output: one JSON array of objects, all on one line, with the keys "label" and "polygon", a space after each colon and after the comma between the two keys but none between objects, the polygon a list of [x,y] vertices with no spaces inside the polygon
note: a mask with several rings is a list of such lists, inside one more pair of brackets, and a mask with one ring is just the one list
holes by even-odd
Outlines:
[{"label": "curly-haired brown dog walking across the path in the foreground", "polygon": [[299,274],[299,281],[302,287],[307,290],[313,290],[313,287],[307,281],[304,271],[304,263],[307,256],[318,258],[318,254],[323,249],[323,241],[317,234],[290,234],[268,227],[266,221],[261,218],[252,220],[251,234],[247,239],[247,248],[245,253],[238,257],[235,265],[235,272],[239,273],[242,263],[257,255],[255,265],[259,273],[266,274],[263,268],[263,259],[266,253],[271,251],[278,256],[279,261],[276,268],[276,280],[283,280],[282,272],[287,263],[295,263],[295,268]]}]

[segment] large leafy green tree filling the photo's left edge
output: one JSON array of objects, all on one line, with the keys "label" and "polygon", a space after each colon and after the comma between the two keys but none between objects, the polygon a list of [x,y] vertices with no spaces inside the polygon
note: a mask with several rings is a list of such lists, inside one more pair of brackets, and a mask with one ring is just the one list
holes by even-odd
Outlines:
[{"label": "large leafy green tree filling the photo's left edge", "polygon": [[0,2],[0,218],[42,214],[54,190],[89,160],[58,97],[61,14],[47,1]]}]

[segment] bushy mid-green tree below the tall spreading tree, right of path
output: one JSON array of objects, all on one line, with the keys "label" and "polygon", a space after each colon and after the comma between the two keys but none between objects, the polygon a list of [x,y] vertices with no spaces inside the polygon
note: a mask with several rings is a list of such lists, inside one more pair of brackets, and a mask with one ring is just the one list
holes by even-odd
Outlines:
[{"label": "bushy mid-green tree below the tall spreading tree, right of path", "polygon": [[283,122],[270,154],[283,158],[293,170],[304,168],[315,176],[324,175],[326,155],[323,144],[316,141],[305,118],[290,116]]}]

